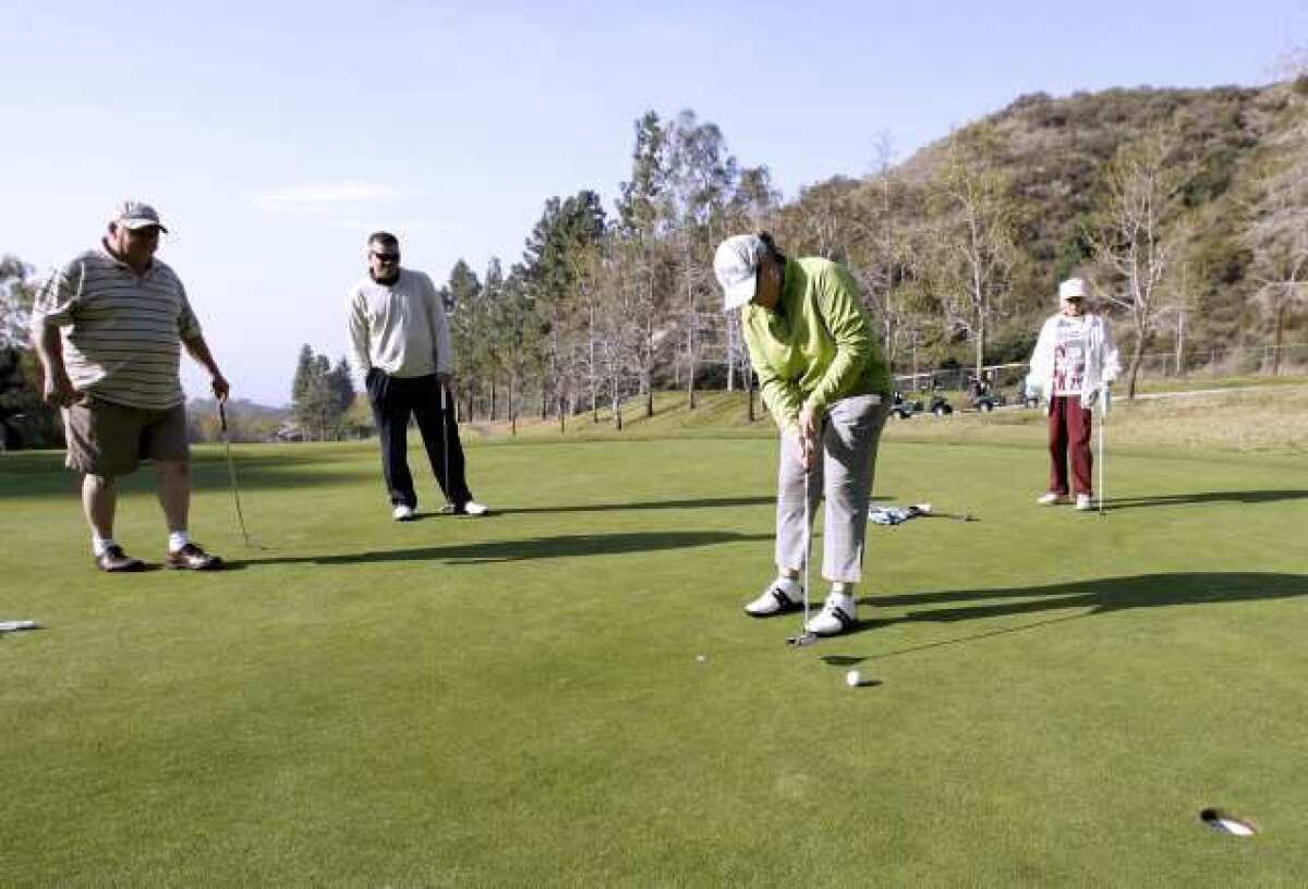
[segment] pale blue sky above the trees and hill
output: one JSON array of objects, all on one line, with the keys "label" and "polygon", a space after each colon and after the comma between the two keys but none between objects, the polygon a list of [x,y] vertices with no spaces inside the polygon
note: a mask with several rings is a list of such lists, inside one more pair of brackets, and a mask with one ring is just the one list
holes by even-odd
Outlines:
[{"label": "pale blue sky above the trees and hill", "polygon": [[368,233],[438,284],[508,267],[551,196],[612,209],[646,110],[791,199],[1024,93],[1269,82],[1308,0],[4,0],[0,35],[0,254],[46,273],[154,204],[233,397],[285,404],[302,344],[345,354]]}]

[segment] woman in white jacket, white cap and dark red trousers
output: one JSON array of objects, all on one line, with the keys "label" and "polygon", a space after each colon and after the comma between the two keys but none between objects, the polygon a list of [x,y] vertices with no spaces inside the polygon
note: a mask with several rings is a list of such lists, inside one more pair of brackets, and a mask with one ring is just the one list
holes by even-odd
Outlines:
[{"label": "woman in white jacket, white cap and dark red trousers", "polygon": [[1066,503],[1069,493],[1075,493],[1078,510],[1091,509],[1093,494],[1091,409],[1103,403],[1107,411],[1109,383],[1121,371],[1108,322],[1086,314],[1084,299],[1083,280],[1067,278],[1058,285],[1058,314],[1040,328],[1027,377],[1027,391],[1049,403],[1049,489],[1036,502]]}]

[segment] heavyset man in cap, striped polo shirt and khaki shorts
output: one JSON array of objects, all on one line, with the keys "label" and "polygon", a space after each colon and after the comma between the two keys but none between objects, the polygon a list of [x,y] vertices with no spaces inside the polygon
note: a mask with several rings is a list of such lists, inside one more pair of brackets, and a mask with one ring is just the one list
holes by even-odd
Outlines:
[{"label": "heavyset man in cap, striped polo shirt and khaki shorts", "polygon": [[187,533],[191,452],[186,439],[186,394],[178,377],[182,346],[213,378],[213,395],[228,397],[186,289],[154,259],[167,231],[153,207],[120,204],[99,248],[59,268],[37,297],[35,345],[44,370],[44,399],[63,408],[68,468],[82,473],[82,507],[95,565],[139,571],[114,540],[118,476],[154,461],[167,522],[165,565],[212,570],[222,560]]}]

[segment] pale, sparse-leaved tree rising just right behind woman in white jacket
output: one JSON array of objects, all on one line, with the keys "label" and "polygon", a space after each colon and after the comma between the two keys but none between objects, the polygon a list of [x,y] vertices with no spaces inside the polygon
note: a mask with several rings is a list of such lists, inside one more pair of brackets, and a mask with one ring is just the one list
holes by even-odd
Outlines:
[{"label": "pale, sparse-leaved tree rising just right behind woman in white jacket", "polygon": [[1179,229],[1164,225],[1184,182],[1173,153],[1172,137],[1159,129],[1118,148],[1101,174],[1099,231],[1090,235],[1110,280],[1109,302],[1129,314],[1135,335],[1127,397],[1135,396],[1144,346],[1168,309],[1163,285],[1181,243]]}]

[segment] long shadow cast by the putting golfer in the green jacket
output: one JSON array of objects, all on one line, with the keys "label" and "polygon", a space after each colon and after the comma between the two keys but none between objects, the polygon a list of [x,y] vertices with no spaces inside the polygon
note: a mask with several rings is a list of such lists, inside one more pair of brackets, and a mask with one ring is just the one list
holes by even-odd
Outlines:
[{"label": "long shadow cast by the putting golfer in the green jacket", "polygon": [[[910,651],[925,651],[943,646],[961,645],[1011,633],[1023,633],[1041,626],[1083,620],[1095,614],[1129,611],[1131,608],[1160,608],[1169,605],[1205,605],[1232,601],[1260,601],[1308,596],[1308,575],[1266,573],[1213,573],[1213,574],[1142,574],[1127,578],[1104,578],[1076,583],[1056,583],[1042,587],[1011,590],[955,590],[908,596],[869,596],[862,605],[908,608],[937,604],[977,601],[985,604],[965,608],[931,608],[909,611],[901,617],[863,621],[854,633],[866,633],[892,624],[954,624],[989,617],[1039,616],[1050,611],[1083,609],[1075,614],[1059,614],[1032,621],[1022,626],[1008,626],[985,633],[942,639],[926,645],[889,651],[876,658],[891,658]],[[995,599],[1010,601],[995,603]],[[1012,601],[1022,599],[1024,601]]]}]

